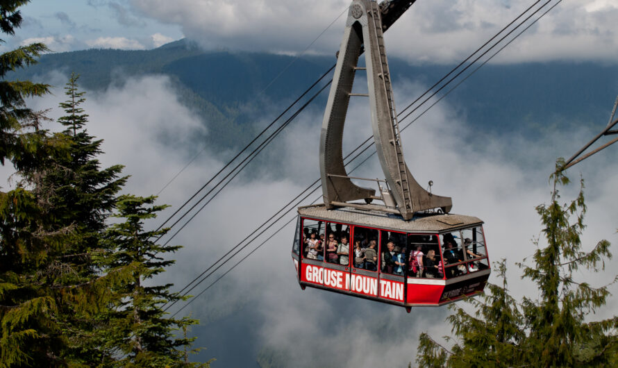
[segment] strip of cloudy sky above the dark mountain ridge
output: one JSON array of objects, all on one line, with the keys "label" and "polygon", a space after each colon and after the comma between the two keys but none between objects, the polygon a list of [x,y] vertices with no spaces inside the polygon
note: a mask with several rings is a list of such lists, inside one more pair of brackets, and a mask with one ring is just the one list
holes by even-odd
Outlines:
[{"label": "strip of cloudy sky above the dark mountain ridge", "polygon": [[[537,1],[535,8],[557,2]],[[458,62],[533,3],[419,0],[389,31],[390,53],[410,62]],[[347,0],[39,0],[23,8],[22,31],[3,47],[43,41],[53,51],[151,49],[187,37],[206,49],[330,54],[347,6]],[[616,0],[562,1],[495,62],[616,62],[617,17]]]}]

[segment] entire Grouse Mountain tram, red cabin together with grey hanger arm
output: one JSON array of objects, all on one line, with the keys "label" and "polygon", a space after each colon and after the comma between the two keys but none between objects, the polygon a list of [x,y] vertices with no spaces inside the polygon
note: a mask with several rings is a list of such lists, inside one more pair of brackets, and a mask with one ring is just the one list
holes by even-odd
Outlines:
[{"label": "entire Grouse Mountain tram, red cabin together with grey hanger arm", "polygon": [[[353,0],[320,137],[324,204],[298,209],[292,259],[299,284],[405,307],[442,306],[483,292],[490,276],[483,221],[452,215],[403,159],[383,33],[415,0]],[[365,53],[366,67],[358,67]],[[366,72],[368,94],[353,94]],[[351,97],[369,99],[384,180],[348,176],[342,136]],[[372,181],[376,189],[354,181]],[[381,201],[383,204],[374,202]]]}]

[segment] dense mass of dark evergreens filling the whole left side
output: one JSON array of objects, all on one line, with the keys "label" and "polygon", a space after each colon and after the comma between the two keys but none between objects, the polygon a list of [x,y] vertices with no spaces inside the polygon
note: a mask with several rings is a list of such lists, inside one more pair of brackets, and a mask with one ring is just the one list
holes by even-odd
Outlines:
[{"label": "dense mass of dark evergreens filling the whole left side", "polygon": [[[15,32],[27,2],[0,1],[5,33]],[[100,167],[101,140],[85,130],[78,75],[60,103],[61,133],[42,129],[46,111],[26,107],[47,85],[4,79],[44,51],[33,44],[0,56],[0,161],[17,170],[17,187],[0,192],[0,367],[192,366],[187,354],[199,349],[186,335],[197,321],[163,316],[160,304],[178,299],[170,285],[142,285],[172,264],[156,254],[178,249],[149,240],[165,231],[142,231],[142,220],[165,206],[119,201],[127,177],[122,165]],[[117,204],[127,221],[110,228]]]}]

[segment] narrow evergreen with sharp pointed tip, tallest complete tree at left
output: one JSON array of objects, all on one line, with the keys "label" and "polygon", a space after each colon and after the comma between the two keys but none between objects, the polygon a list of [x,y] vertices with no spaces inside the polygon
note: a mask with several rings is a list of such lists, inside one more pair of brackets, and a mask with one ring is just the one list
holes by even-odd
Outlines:
[{"label": "narrow evergreen with sharp pointed tip, tallest complete tree at left", "polygon": [[[45,165],[45,174],[37,181],[37,191],[46,195],[57,213],[57,226],[72,226],[70,249],[66,250],[64,264],[71,277],[62,283],[74,291],[71,303],[64,303],[66,319],[63,330],[69,336],[71,360],[87,365],[103,362],[110,357],[101,348],[100,335],[111,297],[113,285],[124,282],[128,274],[115,272],[101,274],[103,260],[111,249],[101,241],[106,230],[106,219],[115,208],[116,196],[127,177],[120,177],[122,165],[101,169],[97,157],[102,140],[87,133],[87,117],[81,104],[85,92],[78,90],[79,76],[72,74],[65,87],[67,101],[60,103],[65,116],[58,122],[65,126],[62,134],[69,140],[65,154],[53,156]],[[36,176],[36,174],[34,175]],[[73,288],[74,289],[74,288]]]}]

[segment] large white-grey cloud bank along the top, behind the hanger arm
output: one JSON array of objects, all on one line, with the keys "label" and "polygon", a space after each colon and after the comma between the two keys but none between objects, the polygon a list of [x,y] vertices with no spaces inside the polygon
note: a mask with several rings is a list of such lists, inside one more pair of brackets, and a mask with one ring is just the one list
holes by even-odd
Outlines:
[{"label": "large white-grey cloud bank along the top, behind the hanger arm", "polygon": [[[346,0],[131,0],[160,22],[178,24],[203,47],[299,53],[349,6]],[[506,26],[530,1],[417,1],[387,33],[390,54],[410,62],[452,63]],[[544,2],[542,2],[544,3]],[[550,3],[551,6],[554,2]],[[547,6],[546,8],[549,8]],[[537,13],[537,16],[542,14]],[[545,60],[618,61],[615,1],[563,1],[530,28],[496,62]],[[346,14],[313,47],[339,47]],[[535,19],[535,17],[533,17]]]}]

